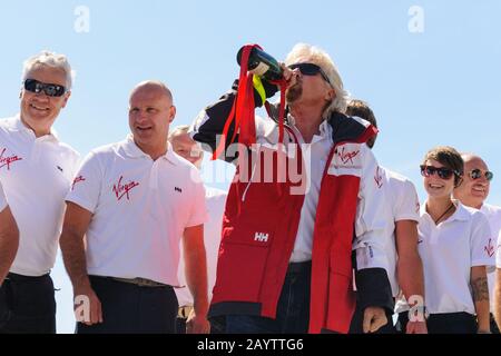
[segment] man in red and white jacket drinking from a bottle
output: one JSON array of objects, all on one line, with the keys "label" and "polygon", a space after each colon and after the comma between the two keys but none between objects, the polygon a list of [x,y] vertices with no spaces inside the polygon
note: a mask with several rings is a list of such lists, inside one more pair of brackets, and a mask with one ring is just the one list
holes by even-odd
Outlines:
[{"label": "man in red and white jacket drinking from a bottle", "polygon": [[[218,158],[238,165],[209,315],[225,316],[227,333],[347,333],[355,268],[363,329],[374,333],[387,323],[385,309],[393,309],[377,164],[365,145],[376,129],[344,115],[347,92],[325,51],[296,44],[282,68],[285,118],[272,107],[269,118],[243,122],[234,137],[230,112],[242,85],[235,82],[191,128],[194,139],[214,150],[229,127]],[[278,89],[264,78],[253,83],[256,107]],[[255,145],[244,138],[246,125],[255,128]]]}]

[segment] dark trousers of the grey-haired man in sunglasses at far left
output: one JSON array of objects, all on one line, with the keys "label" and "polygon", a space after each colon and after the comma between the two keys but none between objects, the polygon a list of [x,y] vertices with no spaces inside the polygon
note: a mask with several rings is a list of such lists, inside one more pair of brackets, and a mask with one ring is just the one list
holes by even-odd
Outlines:
[{"label": "dark trousers of the grey-haired man in sunglasses at far left", "polygon": [[56,334],[56,298],[49,275],[7,276],[0,287],[0,334]]}]

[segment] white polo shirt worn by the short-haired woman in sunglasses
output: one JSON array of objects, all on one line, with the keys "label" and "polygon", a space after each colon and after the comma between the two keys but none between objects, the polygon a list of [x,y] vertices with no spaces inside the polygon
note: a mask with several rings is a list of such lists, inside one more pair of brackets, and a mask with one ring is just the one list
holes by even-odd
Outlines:
[{"label": "white polo shirt worn by the short-haired woman in sunglasses", "polygon": [[489,221],[477,209],[459,201],[456,211],[438,226],[421,208],[419,253],[423,260],[425,304],[430,314],[475,314],[470,290],[471,268],[492,267]]}]

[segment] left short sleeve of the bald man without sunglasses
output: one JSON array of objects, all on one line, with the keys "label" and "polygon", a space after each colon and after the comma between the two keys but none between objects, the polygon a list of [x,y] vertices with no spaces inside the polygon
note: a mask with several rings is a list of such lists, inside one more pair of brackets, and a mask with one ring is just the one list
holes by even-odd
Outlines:
[{"label": "left short sleeve of the bald man without sunglasses", "polygon": [[102,170],[98,157],[91,152],[85,158],[75,175],[71,189],[66,200],[75,202],[94,214],[98,205],[101,184]]}]

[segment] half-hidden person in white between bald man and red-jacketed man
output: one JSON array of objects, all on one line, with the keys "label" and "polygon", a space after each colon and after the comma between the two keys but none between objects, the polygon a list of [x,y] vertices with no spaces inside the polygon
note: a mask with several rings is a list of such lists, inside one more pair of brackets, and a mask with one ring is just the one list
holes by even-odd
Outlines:
[{"label": "half-hidden person in white between bald man and red-jacketed man", "polygon": [[[180,157],[191,162],[197,169],[202,169],[204,152],[198,144],[191,139],[188,134],[189,126],[178,126],[169,134],[169,142],[173,145],[174,151]],[[207,279],[208,279],[208,297],[209,301],[213,295],[214,284],[216,283],[217,255],[219,251],[223,215],[225,212],[225,204],[227,192],[209,186],[205,186],[205,201],[207,205],[208,221],[204,225],[204,243],[207,254]],[[179,264],[179,281],[186,285],[185,261],[180,259]],[[177,300],[179,301],[179,313],[177,316],[177,333],[185,333],[186,319],[193,310],[193,296],[189,289],[184,286],[176,288]],[[218,319],[210,319],[210,333],[224,333],[224,325]]]}]

